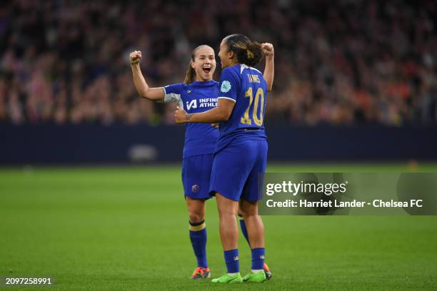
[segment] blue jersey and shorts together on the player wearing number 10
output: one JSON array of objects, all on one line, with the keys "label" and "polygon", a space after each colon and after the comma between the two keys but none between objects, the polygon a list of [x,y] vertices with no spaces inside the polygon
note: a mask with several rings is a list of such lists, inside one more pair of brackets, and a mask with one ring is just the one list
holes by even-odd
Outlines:
[{"label": "blue jersey and shorts together on the player wearing number 10", "polygon": [[263,74],[243,64],[221,73],[218,98],[235,102],[228,121],[220,123],[210,195],[239,201],[257,201],[260,174],[266,171],[267,138],[264,130],[266,81]]}]

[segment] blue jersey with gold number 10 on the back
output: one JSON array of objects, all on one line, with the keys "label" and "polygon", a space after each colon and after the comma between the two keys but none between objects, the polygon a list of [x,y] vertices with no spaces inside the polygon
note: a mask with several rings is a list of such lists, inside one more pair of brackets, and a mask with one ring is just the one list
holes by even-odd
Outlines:
[{"label": "blue jersey with gold number 10 on the back", "polygon": [[235,102],[228,121],[220,123],[216,152],[233,138],[265,140],[264,112],[266,111],[267,84],[256,68],[237,64],[224,68],[220,78],[218,99]]}]

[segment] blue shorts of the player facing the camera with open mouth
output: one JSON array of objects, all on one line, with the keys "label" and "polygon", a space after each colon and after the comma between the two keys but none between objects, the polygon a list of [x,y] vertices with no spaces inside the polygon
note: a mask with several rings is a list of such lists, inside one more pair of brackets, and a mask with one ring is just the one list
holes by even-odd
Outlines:
[{"label": "blue shorts of the player facing the camera with open mouth", "polygon": [[209,180],[214,154],[193,155],[182,160],[184,194],[192,199],[209,199]]}]

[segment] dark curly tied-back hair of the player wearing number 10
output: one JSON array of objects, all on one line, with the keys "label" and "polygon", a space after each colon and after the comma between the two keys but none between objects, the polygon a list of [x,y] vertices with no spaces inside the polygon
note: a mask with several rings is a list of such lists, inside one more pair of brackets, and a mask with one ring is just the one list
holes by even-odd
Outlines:
[{"label": "dark curly tied-back hair of the player wearing number 10", "polygon": [[243,34],[231,34],[224,39],[228,51],[233,51],[237,63],[247,66],[256,66],[263,58],[263,48],[256,41],[251,41]]}]

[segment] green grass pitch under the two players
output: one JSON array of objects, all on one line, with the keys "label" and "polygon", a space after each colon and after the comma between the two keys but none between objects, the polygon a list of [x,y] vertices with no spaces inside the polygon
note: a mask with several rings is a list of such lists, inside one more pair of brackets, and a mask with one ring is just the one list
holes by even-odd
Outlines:
[{"label": "green grass pitch under the two players", "polygon": [[[411,165],[437,172],[437,165]],[[271,165],[270,172],[401,172],[406,164]],[[179,165],[0,170],[0,290],[437,290],[437,216],[265,216],[272,280],[213,285],[196,267]],[[225,272],[215,200],[212,276]],[[251,267],[240,235],[241,272]]]}]

